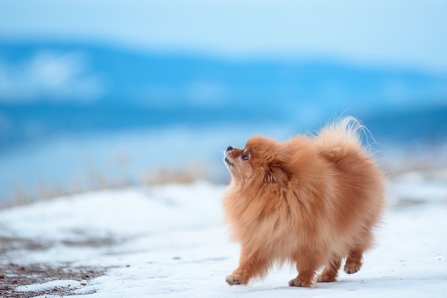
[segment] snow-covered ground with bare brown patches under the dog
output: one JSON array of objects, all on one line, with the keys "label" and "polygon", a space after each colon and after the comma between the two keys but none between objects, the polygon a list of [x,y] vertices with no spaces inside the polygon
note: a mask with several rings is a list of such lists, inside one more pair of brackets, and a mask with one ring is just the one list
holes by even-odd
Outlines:
[{"label": "snow-covered ground with bare brown patches under the dog", "polygon": [[[445,170],[393,178],[376,248],[366,254],[361,271],[341,272],[338,282],[310,289],[288,287],[296,276],[288,267],[276,268],[248,286],[226,284],[239,247],[228,242],[223,224],[224,189],[194,183],[102,191],[2,210],[0,296],[447,295]],[[34,272],[32,268],[50,274],[29,284],[31,279],[21,276]],[[72,274],[51,278],[51,270],[58,268]],[[90,273],[83,277],[74,274],[76,270]]]}]

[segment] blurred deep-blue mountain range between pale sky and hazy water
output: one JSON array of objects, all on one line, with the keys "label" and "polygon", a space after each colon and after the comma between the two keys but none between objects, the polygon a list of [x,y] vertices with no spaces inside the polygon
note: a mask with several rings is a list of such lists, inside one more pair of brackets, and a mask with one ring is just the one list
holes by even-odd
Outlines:
[{"label": "blurred deep-blue mountain range between pale sky and hazy water", "polygon": [[238,61],[0,41],[0,149],[57,134],[276,123],[341,113],[395,140],[447,138],[447,74],[321,59]]}]

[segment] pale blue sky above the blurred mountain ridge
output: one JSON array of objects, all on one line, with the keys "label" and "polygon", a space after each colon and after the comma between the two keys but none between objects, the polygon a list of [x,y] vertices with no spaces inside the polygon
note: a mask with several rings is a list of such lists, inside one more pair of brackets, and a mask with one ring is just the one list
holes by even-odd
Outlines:
[{"label": "pale blue sky above the blurred mountain ridge", "polygon": [[230,58],[337,58],[447,73],[447,1],[0,0],[0,38]]}]

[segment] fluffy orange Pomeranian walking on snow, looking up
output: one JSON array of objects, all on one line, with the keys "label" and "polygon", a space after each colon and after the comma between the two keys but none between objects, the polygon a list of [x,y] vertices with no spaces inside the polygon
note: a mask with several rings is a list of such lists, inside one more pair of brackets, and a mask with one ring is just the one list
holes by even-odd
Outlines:
[{"label": "fluffy orange Pomeranian walking on snow, looking up", "polygon": [[293,287],[311,287],[323,266],[316,281],[334,282],[345,257],[344,271],[358,272],[384,205],[383,175],[359,130],[348,117],[317,135],[283,143],[254,136],[243,149],[226,149],[224,210],[241,243],[228,284],[263,277],[276,262],[296,264]]}]

